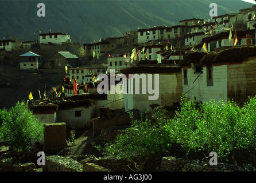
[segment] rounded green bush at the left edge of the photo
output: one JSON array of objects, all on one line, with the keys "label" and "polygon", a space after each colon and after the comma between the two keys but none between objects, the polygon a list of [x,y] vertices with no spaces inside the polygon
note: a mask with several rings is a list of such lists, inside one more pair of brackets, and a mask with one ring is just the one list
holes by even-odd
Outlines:
[{"label": "rounded green bush at the left edge of the photo", "polygon": [[29,150],[32,140],[41,140],[44,125],[29,110],[28,105],[17,102],[8,112],[0,128],[0,138],[13,149],[22,152]]}]

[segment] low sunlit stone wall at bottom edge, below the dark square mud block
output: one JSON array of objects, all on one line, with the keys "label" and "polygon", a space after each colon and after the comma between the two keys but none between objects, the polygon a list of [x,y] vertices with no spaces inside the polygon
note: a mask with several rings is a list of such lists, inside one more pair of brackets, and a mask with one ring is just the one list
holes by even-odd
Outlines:
[{"label": "low sunlit stone wall at bottom edge, below the dark square mud block", "polygon": [[46,156],[43,172],[82,172],[83,165],[71,158],[63,156]]}]

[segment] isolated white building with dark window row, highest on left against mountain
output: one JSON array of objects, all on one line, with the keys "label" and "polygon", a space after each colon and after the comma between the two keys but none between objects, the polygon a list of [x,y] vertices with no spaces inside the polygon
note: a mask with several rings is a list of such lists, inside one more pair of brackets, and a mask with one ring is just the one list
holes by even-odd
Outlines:
[{"label": "isolated white building with dark window row, highest on left against mountain", "polygon": [[64,42],[71,42],[70,35],[65,33],[44,33],[39,34],[40,44],[62,45]]}]

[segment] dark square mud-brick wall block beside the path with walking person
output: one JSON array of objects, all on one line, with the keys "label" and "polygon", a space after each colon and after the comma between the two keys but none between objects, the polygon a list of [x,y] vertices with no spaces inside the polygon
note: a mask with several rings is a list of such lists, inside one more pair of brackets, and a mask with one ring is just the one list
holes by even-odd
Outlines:
[{"label": "dark square mud-brick wall block beside the path with walking person", "polygon": [[67,144],[67,131],[64,122],[44,125],[44,153],[45,156],[57,154]]}]

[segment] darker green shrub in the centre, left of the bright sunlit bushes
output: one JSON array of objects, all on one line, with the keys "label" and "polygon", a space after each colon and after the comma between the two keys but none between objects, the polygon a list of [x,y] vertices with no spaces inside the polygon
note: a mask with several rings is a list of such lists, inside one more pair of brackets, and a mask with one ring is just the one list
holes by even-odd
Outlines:
[{"label": "darker green shrub in the centre, left of the bright sunlit bushes", "polygon": [[117,136],[114,143],[105,145],[103,153],[131,162],[136,158],[135,167],[141,170],[150,156],[166,152],[171,144],[165,129],[167,120],[163,117],[164,112],[154,110],[152,115],[146,112],[141,120],[134,120],[130,128]]}]

